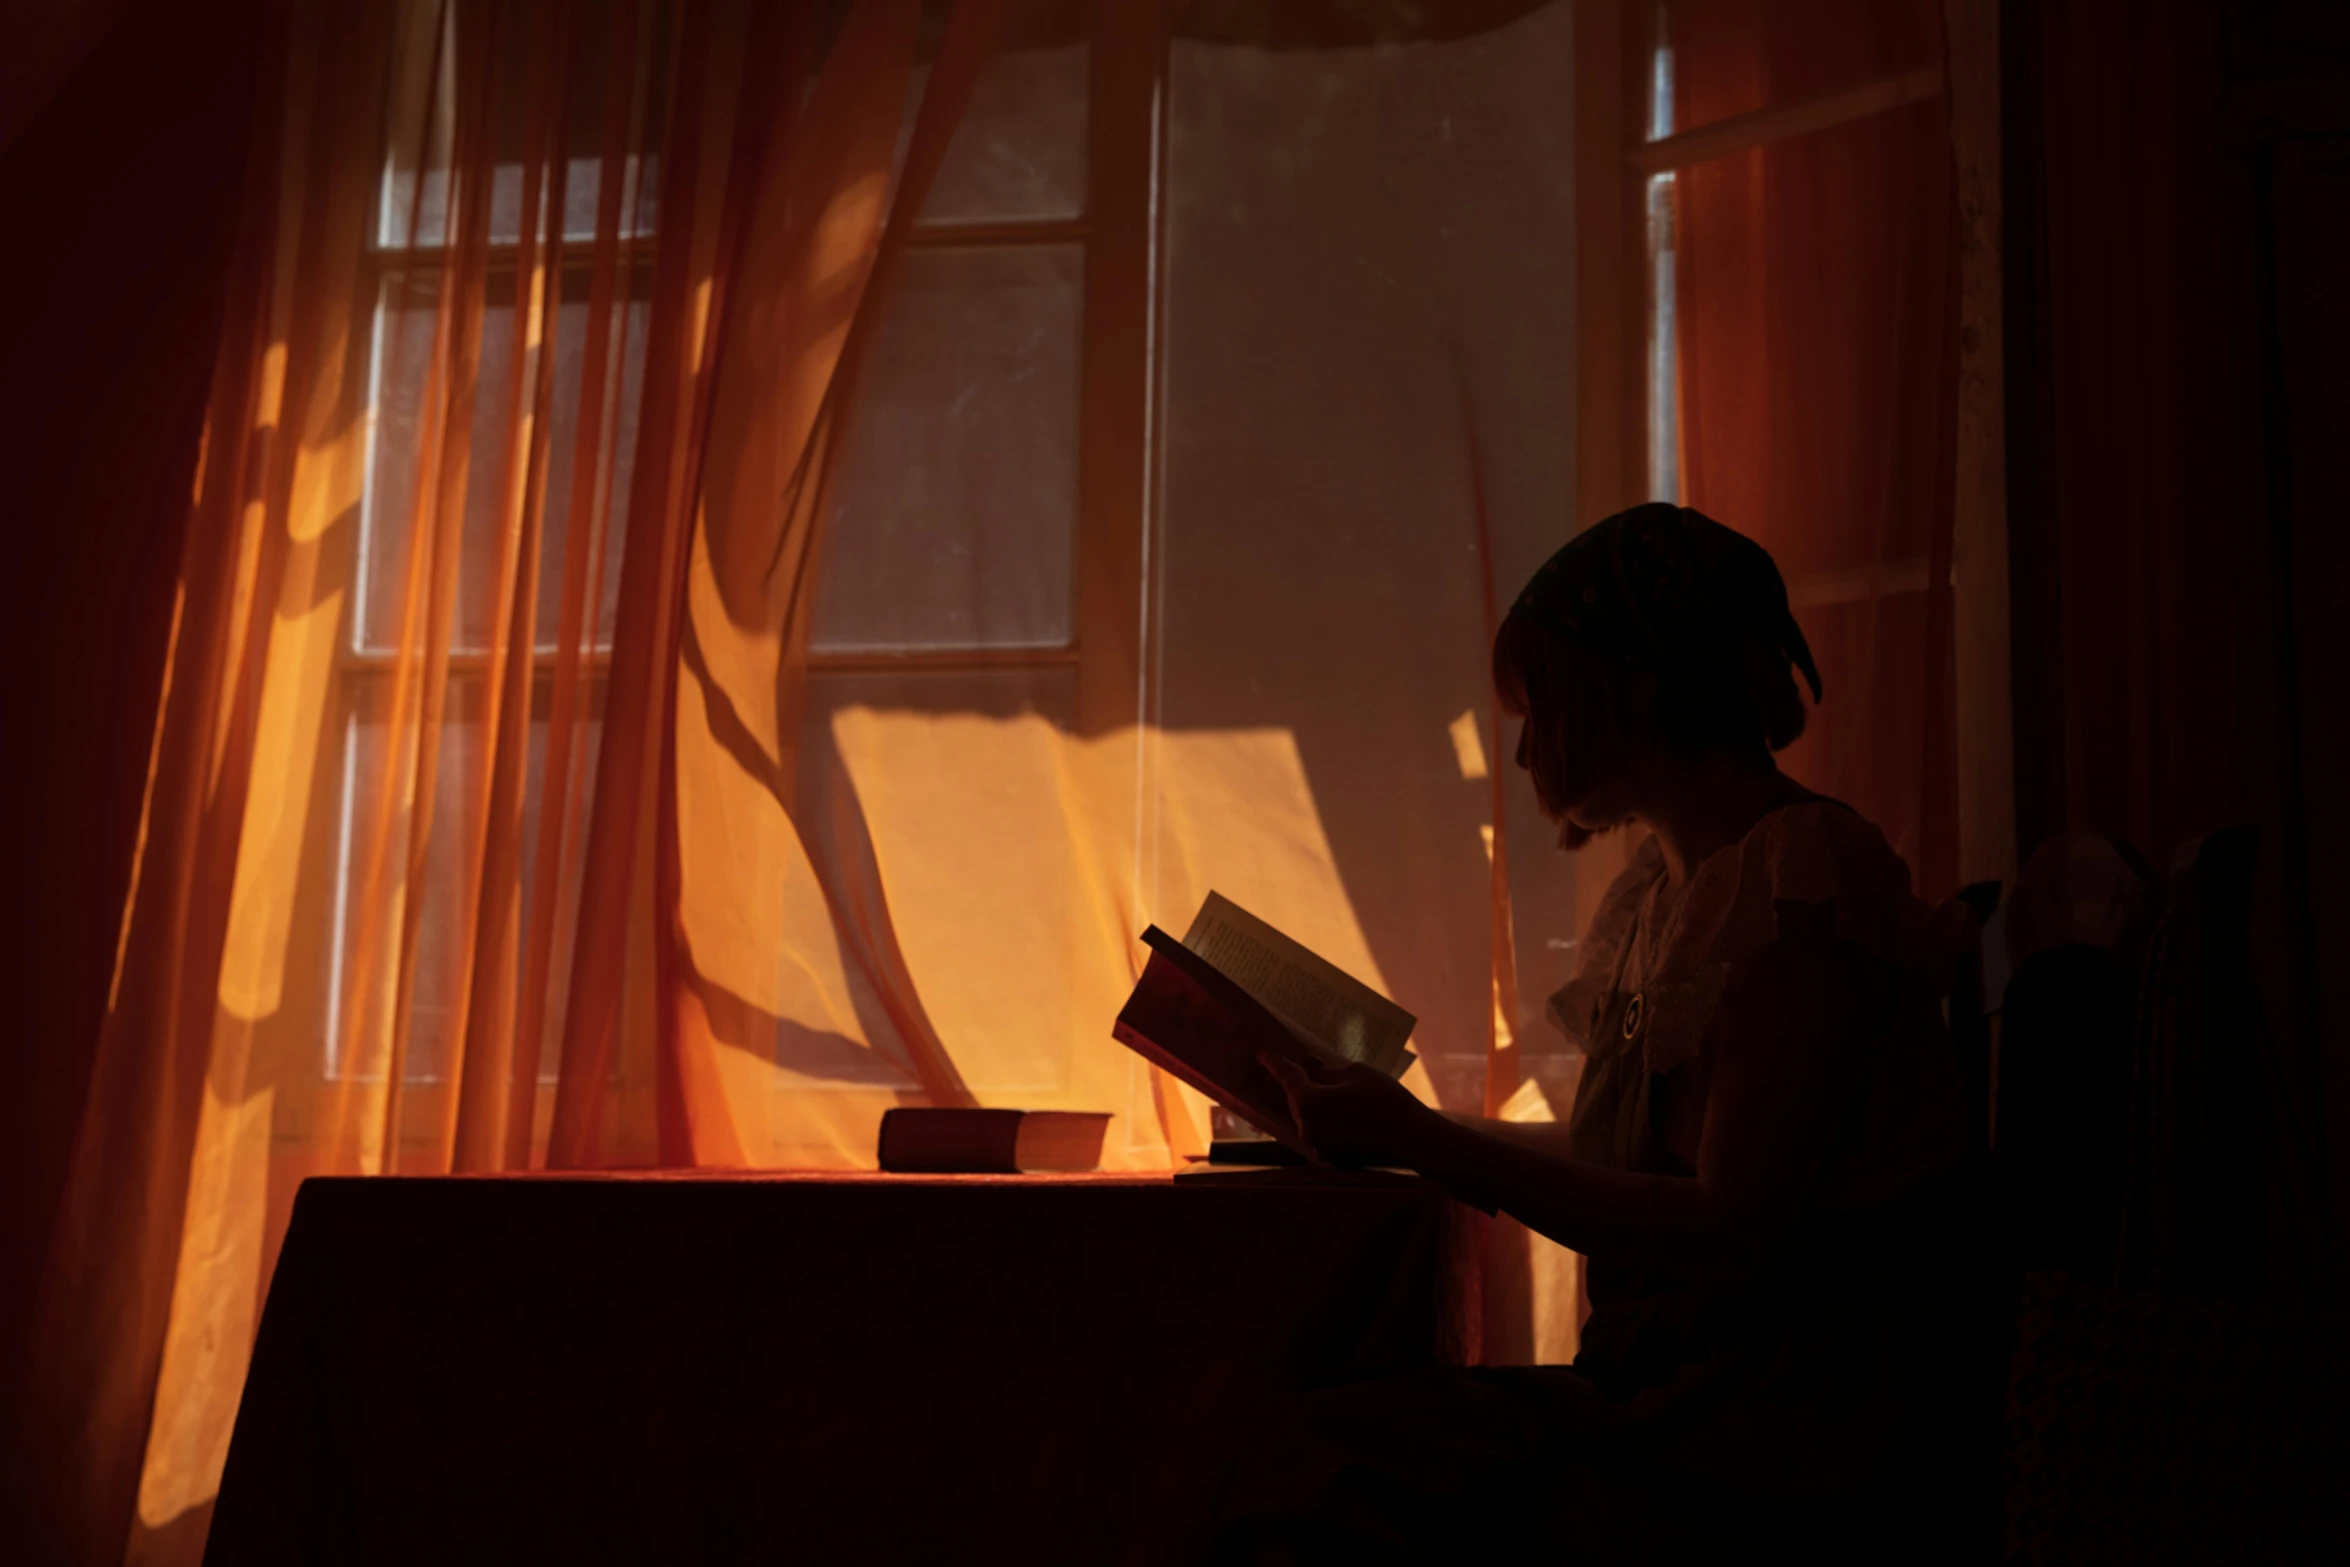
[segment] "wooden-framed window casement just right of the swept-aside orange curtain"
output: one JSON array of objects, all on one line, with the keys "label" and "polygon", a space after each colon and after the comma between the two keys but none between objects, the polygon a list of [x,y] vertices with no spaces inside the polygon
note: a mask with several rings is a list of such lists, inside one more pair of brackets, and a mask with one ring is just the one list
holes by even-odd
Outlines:
[{"label": "wooden-framed window casement just right of the swept-aside orange curtain", "polygon": [[938,677],[1076,721],[1079,686],[1133,660],[1137,611],[1100,594],[1135,592],[1102,566],[1140,552],[1159,23],[1119,0],[1010,9],[858,385],[813,705],[877,677],[926,705]]}]

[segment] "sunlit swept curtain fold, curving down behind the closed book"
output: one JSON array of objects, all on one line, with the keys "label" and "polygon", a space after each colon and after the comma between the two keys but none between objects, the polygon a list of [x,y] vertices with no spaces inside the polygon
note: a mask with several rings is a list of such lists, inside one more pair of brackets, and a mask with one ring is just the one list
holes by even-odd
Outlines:
[{"label": "sunlit swept curtain fold, curving down behind the closed book", "polygon": [[[860,820],[825,822],[820,832],[797,822],[820,533],[858,350],[879,315],[862,305],[881,291],[921,211],[1001,28],[1001,2],[959,5],[949,16],[891,193],[916,21],[909,0],[848,16],[806,108],[778,108],[768,136],[792,146],[773,160],[771,188],[743,240],[745,294],[733,303],[740,329],[719,366],[700,526],[686,561],[686,658],[672,665],[672,681],[691,677],[691,688],[672,686],[672,766],[663,773],[658,834],[663,951],[677,973],[674,984],[663,984],[670,1013],[660,1055],[677,1062],[665,1083],[677,1083],[686,1128],[724,1125],[707,1151],[689,1135],[665,1144],[665,1156],[691,1151],[698,1163],[745,1161],[728,1099],[764,1090],[764,1074],[743,1067],[773,1050],[778,1008],[768,996],[776,954],[787,947],[780,921],[794,897],[806,900],[811,876],[841,959],[881,1003],[926,1099],[973,1102],[921,1006],[886,907],[851,902],[830,865],[832,843],[858,836]],[[663,1125],[667,1132],[672,1121]]]}]

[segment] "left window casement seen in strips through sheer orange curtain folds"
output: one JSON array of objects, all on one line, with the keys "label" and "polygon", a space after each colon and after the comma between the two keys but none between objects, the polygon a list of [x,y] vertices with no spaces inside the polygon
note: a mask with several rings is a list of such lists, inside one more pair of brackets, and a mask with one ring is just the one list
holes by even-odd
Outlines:
[{"label": "left window casement seen in strips through sheer orange curtain folds", "polygon": [[[428,7],[430,9],[430,7]],[[454,7],[451,7],[454,12]],[[566,766],[578,780],[578,794],[566,820],[564,865],[578,860],[588,827],[588,801],[595,785],[597,709],[604,670],[611,658],[613,608],[618,601],[620,543],[637,449],[637,409],[644,385],[646,327],[651,320],[651,254],[658,200],[658,132],[663,122],[660,92],[665,70],[658,59],[613,61],[627,54],[625,28],[634,7],[578,7],[571,26],[580,28],[569,59],[569,96],[559,125],[559,155],[552,179],[538,193],[538,211],[526,223],[526,150],[522,146],[522,101],[529,80],[524,52],[540,45],[519,26],[501,26],[491,70],[501,92],[494,136],[494,172],[489,181],[486,265],[479,301],[479,364],[470,458],[461,505],[458,557],[435,559],[418,547],[418,507],[442,498],[418,496],[418,472],[442,470],[430,463],[428,444],[456,432],[435,428],[428,404],[435,378],[442,294],[458,287],[451,254],[451,136],[449,103],[456,78],[456,26],[444,23],[428,70],[430,82],[395,80],[392,115],[385,127],[383,174],[376,186],[376,214],[369,242],[360,256],[364,320],[357,324],[364,343],[367,418],[364,479],[357,503],[357,538],[341,561],[348,571],[345,637],[336,658],[336,691],[329,721],[341,733],[336,752],[331,822],[331,935],[324,942],[324,1069],[329,1078],[357,1071],[376,1076],[381,1045],[390,1031],[390,996],[400,994],[371,966],[388,966],[397,944],[388,928],[367,942],[362,909],[381,907],[369,881],[388,879],[409,886],[421,907],[397,916],[416,921],[414,984],[407,987],[407,1055],[402,1076],[418,1092],[409,1097],[414,1114],[404,1116],[407,1135],[437,1128],[444,1107],[437,1088],[454,1069],[456,1041],[463,1034],[465,942],[472,935],[461,888],[470,883],[465,858],[479,853],[482,808],[486,803],[484,771],[491,702],[489,670],[508,604],[533,599],[531,679],[529,679],[529,778],[522,789],[522,921],[529,928],[529,904],[538,895],[538,811],[545,794],[550,705],[555,700],[557,639],[566,576],[578,573],[585,625],[578,655],[578,726]],[[658,28],[653,31],[658,54]],[[637,66],[630,70],[630,66]],[[611,66],[620,66],[618,73]],[[505,92],[505,85],[512,85]],[[552,89],[550,85],[540,87]],[[604,188],[604,115],[606,94],[623,92],[613,103],[625,115],[630,153],[618,169],[616,204],[602,207],[613,193]],[[456,193],[463,200],[463,193]],[[562,214],[559,240],[536,244],[545,221]],[[611,298],[597,317],[590,256],[597,226],[609,223],[618,237],[618,261]],[[529,230],[529,233],[526,233]],[[540,320],[545,324],[540,327]],[[552,366],[540,359],[552,338]],[[595,371],[590,374],[590,359]],[[531,475],[531,421],[517,418],[538,392],[538,376],[552,376],[548,402],[545,453],[538,477]],[[446,374],[446,369],[442,371]],[[585,406],[595,392],[595,404]],[[515,404],[515,399],[524,399]],[[512,435],[510,439],[510,432]],[[522,486],[543,484],[540,540],[536,561],[505,559],[517,545],[515,517],[522,510]],[[536,569],[536,592],[501,592],[508,573],[526,578]],[[432,625],[435,573],[446,573],[446,625]],[[416,799],[385,799],[388,780],[407,773],[385,754],[390,745],[414,745],[416,714],[395,712],[402,700],[402,648],[418,658],[423,648],[446,648],[446,695],[437,756],[430,766],[430,834],[423,839],[418,876],[404,874],[409,829],[425,808],[423,787]],[[414,698],[409,698],[414,700]],[[381,883],[381,881],[378,881]],[[564,907],[576,904],[576,876],[557,881]],[[374,900],[374,902],[371,902]],[[569,940],[569,919],[557,921]],[[564,954],[555,954],[555,973]],[[562,1031],[559,991],[543,1017],[545,1041],[538,1076],[552,1081]],[[360,1008],[371,1015],[357,1017]],[[355,1041],[371,1041],[352,1055]],[[374,1062],[374,1069],[362,1067]]]}]

